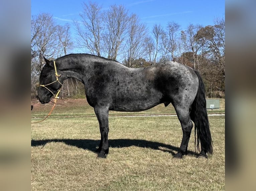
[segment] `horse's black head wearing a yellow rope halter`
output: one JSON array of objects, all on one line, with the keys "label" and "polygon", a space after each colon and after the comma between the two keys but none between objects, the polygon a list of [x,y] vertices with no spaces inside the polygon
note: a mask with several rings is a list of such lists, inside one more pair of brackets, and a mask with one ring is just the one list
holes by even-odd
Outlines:
[{"label": "horse's black head wearing a yellow rope halter", "polygon": [[50,98],[56,95],[56,92],[63,84],[63,78],[55,75],[53,61],[44,58],[46,64],[43,66],[39,77],[39,89],[37,97],[41,103],[48,103]]}]

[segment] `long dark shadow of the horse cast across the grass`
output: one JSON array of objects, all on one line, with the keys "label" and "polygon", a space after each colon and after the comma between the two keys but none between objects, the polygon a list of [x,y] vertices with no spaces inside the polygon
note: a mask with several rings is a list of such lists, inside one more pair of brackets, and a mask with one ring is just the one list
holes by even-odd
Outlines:
[{"label": "long dark shadow of the horse cast across the grass", "polygon": [[[44,140],[31,140],[31,146],[44,146],[49,142],[64,142],[67,145],[76,146],[96,152],[96,146],[100,144],[100,140],[92,139],[44,139]],[[112,148],[123,148],[130,146],[138,146],[142,148],[151,148],[154,150],[161,150],[163,152],[169,152],[172,156],[179,150],[178,147],[167,145],[160,142],[139,140],[139,139],[109,139],[109,146]],[[174,153],[175,151],[175,153]],[[187,154],[195,155],[198,154],[194,151],[187,151]]]}]

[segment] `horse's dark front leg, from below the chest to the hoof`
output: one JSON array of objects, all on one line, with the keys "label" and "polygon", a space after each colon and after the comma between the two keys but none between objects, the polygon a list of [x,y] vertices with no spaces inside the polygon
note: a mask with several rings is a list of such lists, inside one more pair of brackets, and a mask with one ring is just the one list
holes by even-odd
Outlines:
[{"label": "horse's dark front leg, from below the chest to the hoof", "polygon": [[109,145],[108,145],[108,107],[103,106],[96,106],[94,107],[95,114],[98,118],[99,125],[100,125],[100,132],[101,132],[101,142],[99,149],[97,151],[99,152],[98,157],[105,158],[107,157],[107,154],[109,152]]}]

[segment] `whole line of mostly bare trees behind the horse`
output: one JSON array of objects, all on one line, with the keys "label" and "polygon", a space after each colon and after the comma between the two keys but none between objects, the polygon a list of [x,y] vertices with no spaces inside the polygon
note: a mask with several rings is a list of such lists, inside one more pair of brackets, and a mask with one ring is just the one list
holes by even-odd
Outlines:
[{"label": "whole line of mostly bare trees behind the horse", "polygon": [[[43,56],[57,58],[78,48],[85,53],[117,60],[127,67],[146,67],[162,61],[176,61],[200,72],[208,97],[225,96],[225,20],[214,25],[190,24],[181,30],[178,23],[154,24],[148,29],[136,14],[123,5],[103,10],[97,3],[84,3],[80,20],[71,26],[57,25],[52,15],[42,13],[31,19],[31,96],[36,95]],[[63,85],[61,96],[84,95],[84,86],[75,79]]]}]

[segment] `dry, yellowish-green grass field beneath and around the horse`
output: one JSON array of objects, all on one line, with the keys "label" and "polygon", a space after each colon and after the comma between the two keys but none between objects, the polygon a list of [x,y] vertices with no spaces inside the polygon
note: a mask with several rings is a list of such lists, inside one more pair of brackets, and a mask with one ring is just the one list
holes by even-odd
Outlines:
[{"label": "dry, yellowish-green grass field beneath and around the horse", "polygon": [[[194,128],[188,155],[174,159],[182,138],[176,116],[114,117],[123,113],[111,112],[110,151],[99,159],[93,109],[81,100],[69,101],[60,102],[45,121],[31,124],[31,190],[225,190],[225,116],[209,116],[214,142],[209,159],[196,158]],[[51,106],[34,106],[31,121]],[[222,106],[215,112],[224,111]],[[159,105],[142,113],[175,111]]]}]

